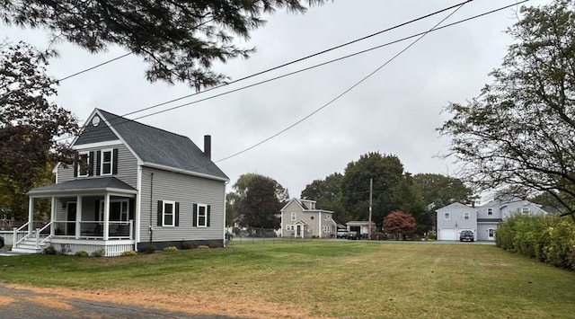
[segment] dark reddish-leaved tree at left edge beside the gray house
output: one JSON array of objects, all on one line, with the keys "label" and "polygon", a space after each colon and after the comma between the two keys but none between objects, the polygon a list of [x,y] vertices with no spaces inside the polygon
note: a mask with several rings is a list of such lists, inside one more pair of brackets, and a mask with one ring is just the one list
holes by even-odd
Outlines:
[{"label": "dark reddish-leaved tree at left edge beside the gray house", "polygon": [[48,56],[22,42],[0,45],[0,179],[15,217],[25,214],[25,192],[49,183],[47,167],[71,163],[75,154],[57,139],[75,134],[78,125],[49,101],[57,83],[45,73]]}]

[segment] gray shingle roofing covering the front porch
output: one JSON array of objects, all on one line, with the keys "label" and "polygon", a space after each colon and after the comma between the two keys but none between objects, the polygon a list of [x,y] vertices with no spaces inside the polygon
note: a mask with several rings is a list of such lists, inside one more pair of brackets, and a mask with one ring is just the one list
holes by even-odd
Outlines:
[{"label": "gray shingle roofing covering the front porch", "polygon": [[50,191],[96,191],[96,190],[124,190],[124,191],[137,191],[125,182],[119,179],[107,176],[96,178],[83,178],[67,182],[60,182],[48,186],[37,187],[32,189],[29,194],[46,193]]}]

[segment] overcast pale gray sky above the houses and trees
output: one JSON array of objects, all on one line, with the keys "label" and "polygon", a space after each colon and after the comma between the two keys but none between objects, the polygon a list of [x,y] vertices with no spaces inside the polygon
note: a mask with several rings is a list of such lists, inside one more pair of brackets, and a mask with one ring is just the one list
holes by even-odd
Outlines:
[{"label": "overcast pale gray sky above the houses and trees", "polygon": [[[233,60],[216,69],[234,80],[459,2],[335,0],[314,7],[303,15],[279,11],[267,18],[268,23],[263,28],[252,33],[251,40],[242,41],[245,47],[257,48],[252,58]],[[475,0],[464,5],[444,24],[514,3],[516,1]],[[530,1],[527,4],[545,3],[548,1]],[[288,188],[291,197],[296,198],[306,184],[331,173],[343,173],[350,161],[358,160],[360,155],[368,152],[397,155],[404,170],[409,173],[453,175],[457,170],[456,164],[436,156],[445,153],[449,145],[449,139],[439,137],[435,130],[448,118],[448,114],[441,111],[448,102],[472,99],[484,84],[489,83],[488,73],[500,66],[511,43],[504,31],[517,22],[516,10],[507,9],[429,33],[400,57],[314,116],[261,146],[217,164],[230,177],[230,186],[243,173],[260,173],[277,180]],[[224,93],[427,31],[447,14],[441,13],[346,48],[154,111]],[[48,45],[49,37],[45,31],[1,27],[2,38],[25,40],[39,48]],[[138,121],[190,137],[200,148],[203,148],[203,136],[209,134],[212,136],[212,159],[218,161],[305,118],[382,66],[411,41]],[[74,74],[127,52],[111,48],[108,52],[93,55],[67,43],[58,44],[57,50],[60,56],[49,66],[49,74],[56,78]],[[84,122],[96,107],[122,115],[195,93],[185,84],[170,86],[146,82],[145,67],[141,58],[121,58],[63,81],[55,101],[73,111]],[[128,118],[142,115],[146,113]]]}]

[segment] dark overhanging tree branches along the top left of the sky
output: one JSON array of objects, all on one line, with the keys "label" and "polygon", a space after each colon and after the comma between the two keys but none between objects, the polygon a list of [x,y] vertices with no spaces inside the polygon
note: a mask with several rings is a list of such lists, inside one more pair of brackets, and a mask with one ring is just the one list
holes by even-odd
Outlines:
[{"label": "dark overhanging tree branches along the top left of the sky", "polygon": [[187,82],[199,88],[219,84],[225,75],[214,62],[247,58],[234,38],[249,39],[264,14],[285,8],[305,13],[325,0],[4,0],[0,21],[46,28],[53,40],[67,40],[91,52],[118,45],[144,58],[150,81]]}]

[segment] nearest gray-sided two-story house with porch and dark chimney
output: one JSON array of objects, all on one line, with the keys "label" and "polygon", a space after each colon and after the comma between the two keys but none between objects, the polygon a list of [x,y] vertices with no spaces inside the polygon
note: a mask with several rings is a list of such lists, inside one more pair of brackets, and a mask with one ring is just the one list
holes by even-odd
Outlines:
[{"label": "nearest gray-sided two-story house with porch and dark chimney", "polygon": [[[56,183],[28,192],[29,221],[14,230],[13,251],[106,256],[190,244],[224,244],[226,182],[188,137],[95,109],[72,146],[74,165],[57,164]],[[49,222],[34,221],[34,201],[49,199]]]}]

